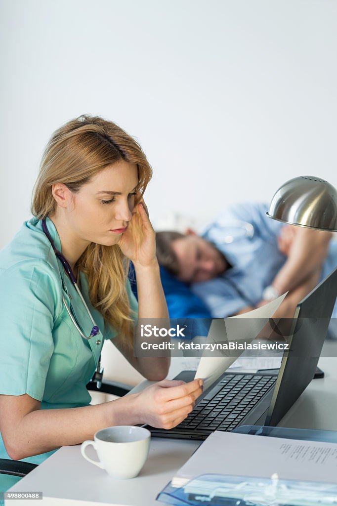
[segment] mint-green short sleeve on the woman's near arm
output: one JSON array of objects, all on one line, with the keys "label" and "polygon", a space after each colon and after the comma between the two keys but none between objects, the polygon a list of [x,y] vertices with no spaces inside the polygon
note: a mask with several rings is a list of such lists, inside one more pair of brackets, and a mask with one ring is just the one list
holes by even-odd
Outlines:
[{"label": "mint-green short sleeve on the woman's near arm", "polygon": [[43,399],[56,308],[55,282],[44,261],[21,262],[0,275],[0,394]]}]

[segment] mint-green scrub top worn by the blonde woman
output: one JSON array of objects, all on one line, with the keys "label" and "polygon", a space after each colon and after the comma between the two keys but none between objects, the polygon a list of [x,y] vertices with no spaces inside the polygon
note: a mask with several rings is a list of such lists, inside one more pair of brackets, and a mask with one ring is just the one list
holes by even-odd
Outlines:
[{"label": "mint-green scrub top worn by the blonde woman", "polygon": [[[61,251],[53,222],[47,218],[46,224]],[[41,402],[41,409],[88,406],[91,396],[86,385],[96,369],[104,339],[114,338],[117,331],[91,305],[87,278],[80,272],[79,289],[100,330],[90,340],[81,337],[62,294],[85,335],[90,335],[93,323],[36,218],[24,222],[0,251],[0,286],[0,394],[28,394]],[[127,291],[135,317],[138,303],[129,280]],[[23,460],[40,463],[54,451]],[[9,458],[2,438],[0,458]],[[4,476],[0,475],[0,491],[17,481],[6,476],[5,484]]]}]

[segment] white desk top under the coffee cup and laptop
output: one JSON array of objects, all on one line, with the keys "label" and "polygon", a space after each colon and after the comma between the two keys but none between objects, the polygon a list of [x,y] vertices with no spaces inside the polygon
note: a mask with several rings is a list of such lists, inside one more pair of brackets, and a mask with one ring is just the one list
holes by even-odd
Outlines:
[{"label": "white desk top under the coffee cup and laptop", "polygon": [[[325,372],[314,379],[283,417],[282,427],[337,430],[337,357],[321,357]],[[197,441],[152,438],[149,458],[133,480],[112,480],[80,454],[80,446],[60,448],[11,488],[11,492],[42,491],[39,500],[9,500],[6,506],[159,506],[157,493],[199,446]],[[92,457],[97,458],[92,448]],[[89,453],[90,454],[90,453]]]}]

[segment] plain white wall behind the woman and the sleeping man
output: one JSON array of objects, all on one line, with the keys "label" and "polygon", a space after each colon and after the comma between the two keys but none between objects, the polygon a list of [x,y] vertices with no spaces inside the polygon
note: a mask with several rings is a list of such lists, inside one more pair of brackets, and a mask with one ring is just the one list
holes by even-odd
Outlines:
[{"label": "plain white wall behind the woman and the sleeping man", "polygon": [[285,180],[337,185],[334,0],[3,0],[0,246],[28,219],[51,133],[116,121],[154,168],[146,201],[203,220]]}]

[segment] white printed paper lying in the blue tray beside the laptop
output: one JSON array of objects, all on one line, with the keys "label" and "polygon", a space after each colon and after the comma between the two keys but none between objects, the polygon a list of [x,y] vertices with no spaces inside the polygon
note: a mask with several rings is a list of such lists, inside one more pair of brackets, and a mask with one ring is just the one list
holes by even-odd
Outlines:
[{"label": "white printed paper lying in the blue tray beside the laptop", "polygon": [[[252,465],[254,462],[254,465]],[[203,474],[337,483],[337,443],[216,431],[179,470],[172,485]]]}]

